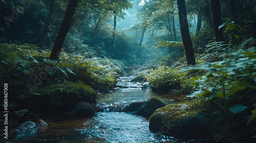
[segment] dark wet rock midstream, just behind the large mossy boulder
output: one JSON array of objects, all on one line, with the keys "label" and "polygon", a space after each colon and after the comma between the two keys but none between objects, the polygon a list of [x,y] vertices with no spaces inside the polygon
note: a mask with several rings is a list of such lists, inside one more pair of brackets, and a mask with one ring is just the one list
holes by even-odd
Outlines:
[{"label": "dark wet rock midstream, just behind the large mossy boulder", "polygon": [[125,107],[125,111],[128,113],[136,114],[139,116],[151,116],[156,109],[166,106],[157,98],[151,98],[146,101],[133,102],[129,106]]}]

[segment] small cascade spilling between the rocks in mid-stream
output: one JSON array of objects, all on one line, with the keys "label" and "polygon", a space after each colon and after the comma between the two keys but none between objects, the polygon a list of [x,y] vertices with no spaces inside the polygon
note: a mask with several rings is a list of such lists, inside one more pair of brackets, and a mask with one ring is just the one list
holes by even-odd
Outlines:
[{"label": "small cascade spilling between the rocks in mid-stream", "polygon": [[104,112],[125,112],[125,107],[127,104],[123,103],[111,103],[111,104],[101,104],[100,107]]}]

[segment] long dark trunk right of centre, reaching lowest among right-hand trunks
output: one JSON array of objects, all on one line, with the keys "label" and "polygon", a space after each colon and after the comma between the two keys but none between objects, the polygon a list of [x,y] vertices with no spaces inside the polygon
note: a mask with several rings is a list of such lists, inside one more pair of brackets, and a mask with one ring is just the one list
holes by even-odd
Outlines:
[{"label": "long dark trunk right of centre, reaching lowest among right-hand trunks", "polygon": [[193,44],[189,35],[185,0],[177,0],[177,4],[178,4],[178,10],[179,10],[179,19],[180,19],[180,31],[181,31],[181,37],[183,41],[187,64],[195,65],[196,58],[195,58]]}]

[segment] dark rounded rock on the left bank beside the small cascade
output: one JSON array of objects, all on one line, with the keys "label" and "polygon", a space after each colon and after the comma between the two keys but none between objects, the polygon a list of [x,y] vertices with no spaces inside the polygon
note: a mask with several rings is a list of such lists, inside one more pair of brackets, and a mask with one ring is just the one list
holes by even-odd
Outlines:
[{"label": "dark rounded rock on the left bank beside the small cascade", "polygon": [[79,102],[73,109],[73,113],[84,117],[95,115],[93,107],[88,102]]}]

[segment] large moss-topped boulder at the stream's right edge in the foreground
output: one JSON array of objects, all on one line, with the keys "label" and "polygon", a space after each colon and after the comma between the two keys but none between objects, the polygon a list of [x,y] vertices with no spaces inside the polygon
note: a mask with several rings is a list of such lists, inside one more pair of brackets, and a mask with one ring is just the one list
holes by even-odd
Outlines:
[{"label": "large moss-topped boulder at the stream's right edge in the foreground", "polygon": [[190,110],[188,104],[168,105],[157,109],[150,117],[149,128],[153,132],[189,138],[208,138],[209,122],[198,110]]}]

